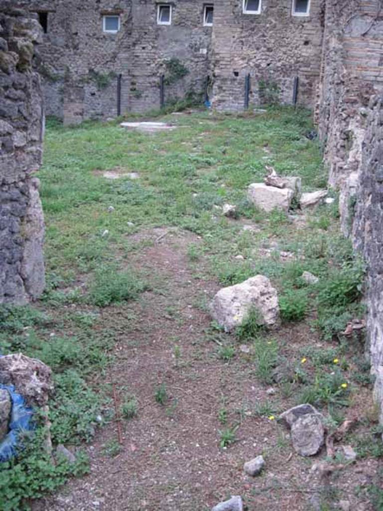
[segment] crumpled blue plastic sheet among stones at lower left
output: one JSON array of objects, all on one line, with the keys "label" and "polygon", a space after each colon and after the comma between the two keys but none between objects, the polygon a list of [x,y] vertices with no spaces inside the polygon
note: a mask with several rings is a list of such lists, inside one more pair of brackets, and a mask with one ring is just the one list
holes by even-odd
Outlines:
[{"label": "crumpled blue plastic sheet among stones at lower left", "polygon": [[12,402],[9,433],[0,442],[0,461],[8,461],[15,456],[16,448],[20,447],[19,434],[23,431],[32,431],[34,429],[32,421],[33,409],[26,406],[24,398],[15,392],[13,385],[3,385],[0,383],[0,389],[8,390]]}]

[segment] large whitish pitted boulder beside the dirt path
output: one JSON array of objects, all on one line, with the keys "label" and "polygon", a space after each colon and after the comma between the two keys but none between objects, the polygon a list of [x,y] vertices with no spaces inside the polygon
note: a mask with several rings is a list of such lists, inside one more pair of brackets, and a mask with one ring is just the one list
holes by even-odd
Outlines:
[{"label": "large whitish pitted boulder beside the dirt path", "polygon": [[213,298],[211,314],[226,332],[231,332],[241,325],[251,308],[259,311],[260,318],[268,327],[278,322],[278,294],[264,275],[222,288]]}]

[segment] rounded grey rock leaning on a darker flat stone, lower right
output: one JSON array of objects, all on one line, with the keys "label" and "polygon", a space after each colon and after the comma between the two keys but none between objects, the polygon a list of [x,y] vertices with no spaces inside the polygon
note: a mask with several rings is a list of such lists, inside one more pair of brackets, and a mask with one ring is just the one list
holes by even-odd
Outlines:
[{"label": "rounded grey rock leaning on a darker flat stone, lower right", "polygon": [[314,456],[324,444],[323,416],[307,413],[297,419],[291,427],[294,450],[301,456]]}]

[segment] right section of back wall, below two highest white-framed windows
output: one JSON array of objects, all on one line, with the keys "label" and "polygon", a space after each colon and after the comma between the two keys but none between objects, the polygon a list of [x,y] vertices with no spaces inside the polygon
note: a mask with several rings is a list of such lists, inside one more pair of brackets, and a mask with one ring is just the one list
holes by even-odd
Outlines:
[{"label": "right section of back wall, below two highest white-framed windows", "polygon": [[214,4],[213,106],[243,110],[245,77],[251,75],[250,103],[258,105],[259,81],[275,83],[281,103],[314,104],[320,75],[324,2],[311,0],[309,16],[293,16],[292,0],[262,0],[261,13],[244,14],[242,0]]}]

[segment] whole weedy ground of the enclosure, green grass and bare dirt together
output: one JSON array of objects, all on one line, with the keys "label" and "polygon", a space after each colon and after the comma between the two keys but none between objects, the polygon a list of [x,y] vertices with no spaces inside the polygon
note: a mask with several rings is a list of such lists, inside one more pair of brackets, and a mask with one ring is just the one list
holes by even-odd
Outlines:
[{"label": "whole weedy ground of the enclosure, green grass and bare dirt together", "polygon": [[[88,456],[88,482],[71,483],[65,509],[97,501],[108,510],[191,511],[230,492],[249,509],[314,509],[313,497],[322,511],[342,498],[381,509],[383,449],[363,339],[341,335],[363,314],[364,268],[338,234],[337,202],[286,215],[246,200],[265,165],[301,176],[306,191],[325,186],[320,145],[305,137],[310,113],[164,120],[179,128],[150,135],[115,123],[48,126],[39,176],[47,288],[34,306],[0,311],[0,349],[54,369],[54,444],[92,445],[77,451],[75,466],[53,466],[34,443],[3,466],[0,508],[22,508],[23,498],[85,473]],[[122,177],[106,179],[105,171]],[[131,172],[139,178],[123,177]],[[235,220],[222,216],[225,202],[237,205]],[[305,270],[319,283],[306,284]],[[281,329],[260,330],[250,316],[225,334],[209,318],[209,300],[257,273],[279,291]],[[322,409],[330,431],[356,417],[345,442],[365,476],[349,466],[331,481],[312,481],[302,479],[311,460],[293,455],[286,465],[290,440],[273,417],[303,402]],[[249,481],[242,463],[262,452],[268,468]],[[55,499],[39,505],[62,508]]]}]

